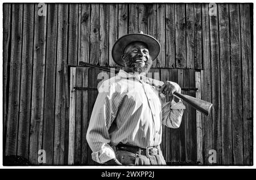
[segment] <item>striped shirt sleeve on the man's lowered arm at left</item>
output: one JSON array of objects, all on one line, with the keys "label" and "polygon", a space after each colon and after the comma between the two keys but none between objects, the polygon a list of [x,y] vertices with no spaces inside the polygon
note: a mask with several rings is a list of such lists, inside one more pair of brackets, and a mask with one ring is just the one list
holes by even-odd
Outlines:
[{"label": "striped shirt sleeve on the man's lowered arm at left", "polygon": [[[106,83],[103,84],[106,85]],[[102,85],[99,88],[86,134],[86,140],[93,151],[92,160],[101,164],[115,158],[113,148],[109,145],[108,130],[117,114],[119,104],[116,98],[117,93],[111,88],[107,88],[109,91],[102,91]]]}]

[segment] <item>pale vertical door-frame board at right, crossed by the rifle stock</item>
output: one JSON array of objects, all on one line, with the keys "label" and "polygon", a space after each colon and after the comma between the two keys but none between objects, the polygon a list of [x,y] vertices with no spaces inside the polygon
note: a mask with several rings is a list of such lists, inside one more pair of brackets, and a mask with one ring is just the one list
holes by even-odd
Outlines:
[{"label": "pale vertical door-frame board at right, crossed by the rifle stock", "polygon": [[[195,81],[196,81],[196,98],[201,99],[201,76],[203,70],[195,72]],[[196,161],[199,161],[203,164],[203,136],[202,136],[202,113],[196,110],[196,152],[197,158]]]}]

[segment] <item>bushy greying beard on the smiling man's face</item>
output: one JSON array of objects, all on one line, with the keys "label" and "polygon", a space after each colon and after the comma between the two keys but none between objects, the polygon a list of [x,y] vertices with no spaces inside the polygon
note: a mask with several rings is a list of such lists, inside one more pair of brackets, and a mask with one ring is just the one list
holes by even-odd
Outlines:
[{"label": "bushy greying beard on the smiling man's face", "polygon": [[147,72],[150,70],[150,67],[152,65],[151,57],[145,61],[144,66],[142,66],[141,63],[136,62],[136,59],[138,59],[138,57],[130,57],[127,54],[125,54],[125,57],[123,57],[123,61],[125,62],[125,65],[131,68],[131,70],[133,70],[134,73],[147,74]]}]

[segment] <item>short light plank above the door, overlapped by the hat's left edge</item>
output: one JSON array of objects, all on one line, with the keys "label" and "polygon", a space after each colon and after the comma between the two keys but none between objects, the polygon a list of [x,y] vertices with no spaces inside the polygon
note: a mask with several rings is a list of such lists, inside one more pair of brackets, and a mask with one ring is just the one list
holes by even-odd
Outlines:
[{"label": "short light plank above the door, overlapped by the hat's left edge", "polygon": [[112,58],[112,48],[118,38],[118,4],[109,5],[109,66],[117,66]]}]

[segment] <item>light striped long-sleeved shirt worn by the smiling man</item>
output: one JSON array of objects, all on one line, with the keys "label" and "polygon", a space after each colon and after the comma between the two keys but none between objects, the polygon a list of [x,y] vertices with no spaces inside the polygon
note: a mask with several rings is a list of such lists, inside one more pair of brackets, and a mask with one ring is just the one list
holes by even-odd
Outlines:
[{"label": "light striped long-sleeved shirt worn by the smiling man", "polygon": [[138,76],[120,70],[98,92],[86,134],[96,162],[115,158],[110,144],[152,147],[162,141],[162,125],[180,126],[183,102],[166,102],[163,93]]}]

